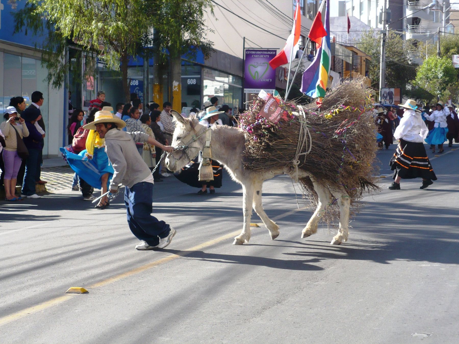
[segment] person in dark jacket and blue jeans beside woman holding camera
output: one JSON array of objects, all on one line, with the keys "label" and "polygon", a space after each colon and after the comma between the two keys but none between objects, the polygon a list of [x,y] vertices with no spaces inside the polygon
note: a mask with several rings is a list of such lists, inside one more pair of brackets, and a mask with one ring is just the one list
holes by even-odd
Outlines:
[{"label": "person in dark jacket and blue jeans beside woman holding camera", "polygon": [[43,149],[43,137],[35,127],[35,122],[41,119],[39,111],[24,110],[21,117],[26,121],[29,135],[22,140],[28,149],[28,158],[26,159],[26,172],[22,181],[21,197],[40,198],[35,191],[35,180],[37,171],[41,164],[41,151]]}]

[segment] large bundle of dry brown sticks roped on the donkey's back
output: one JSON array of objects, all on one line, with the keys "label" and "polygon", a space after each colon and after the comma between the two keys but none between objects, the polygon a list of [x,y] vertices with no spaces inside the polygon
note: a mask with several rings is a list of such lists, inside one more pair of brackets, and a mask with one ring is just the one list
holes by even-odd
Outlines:
[{"label": "large bundle of dry brown sticks roped on the donkey's back", "polygon": [[[261,98],[239,117],[246,135],[247,169],[297,164],[330,188],[346,191],[352,201],[365,189],[377,188],[373,99],[364,79],[342,83],[325,96],[319,109],[316,104],[301,107],[276,100],[283,109],[277,124],[259,115],[265,103]],[[298,156],[298,143],[304,141],[301,151],[307,154]],[[300,184],[308,195],[314,194],[310,180],[301,179]]]}]

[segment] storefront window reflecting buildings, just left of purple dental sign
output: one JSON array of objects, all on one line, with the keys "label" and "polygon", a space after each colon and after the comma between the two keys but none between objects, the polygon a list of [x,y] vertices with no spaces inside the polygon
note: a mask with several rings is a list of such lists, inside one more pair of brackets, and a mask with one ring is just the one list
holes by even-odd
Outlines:
[{"label": "storefront window reflecting buildings, just left of purple dental sign", "polygon": [[242,79],[235,75],[203,68],[204,94],[203,102],[212,97],[218,98],[218,105],[228,105],[231,108],[241,106]]}]

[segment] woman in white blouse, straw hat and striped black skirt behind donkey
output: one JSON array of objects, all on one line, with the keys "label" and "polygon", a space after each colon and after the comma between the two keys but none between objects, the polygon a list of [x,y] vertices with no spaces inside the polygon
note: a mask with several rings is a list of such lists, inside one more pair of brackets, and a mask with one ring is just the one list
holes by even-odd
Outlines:
[{"label": "woman in white blouse, straw hat and striped black skirt behind donkey", "polygon": [[423,143],[428,133],[427,126],[414,100],[409,99],[399,106],[405,108],[405,113],[394,133],[399,143],[389,163],[394,171],[394,181],[387,188],[400,190],[400,179],[422,178],[420,189],[425,189],[433,184],[432,180],[437,180]]}]

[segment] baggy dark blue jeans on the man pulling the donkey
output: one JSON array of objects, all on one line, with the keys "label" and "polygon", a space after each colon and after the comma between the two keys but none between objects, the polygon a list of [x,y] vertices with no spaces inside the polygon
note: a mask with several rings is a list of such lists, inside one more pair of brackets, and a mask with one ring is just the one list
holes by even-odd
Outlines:
[{"label": "baggy dark blue jeans on the man pulling the donkey", "polygon": [[153,206],[153,184],[145,181],[124,188],[124,204],[128,217],[129,229],[139,240],[151,246],[159,243],[159,238],[169,235],[170,226],[151,215]]}]

